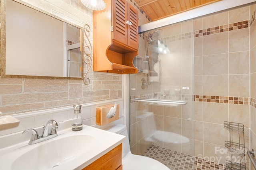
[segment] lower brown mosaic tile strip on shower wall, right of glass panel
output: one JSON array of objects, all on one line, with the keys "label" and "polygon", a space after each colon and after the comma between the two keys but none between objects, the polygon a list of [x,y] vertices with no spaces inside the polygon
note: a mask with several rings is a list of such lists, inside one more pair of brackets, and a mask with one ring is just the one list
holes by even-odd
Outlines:
[{"label": "lower brown mosaic tile strip on shower wall, right of glass panel", "polygon": [[249,105],[248,97],[194,95],[194,101]]}]

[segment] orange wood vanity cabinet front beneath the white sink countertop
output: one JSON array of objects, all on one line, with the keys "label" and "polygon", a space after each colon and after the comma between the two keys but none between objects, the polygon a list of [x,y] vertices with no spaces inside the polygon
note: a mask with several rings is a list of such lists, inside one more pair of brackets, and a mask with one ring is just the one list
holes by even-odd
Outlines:
[{"label": "orange wood vanity cabinet front beneath the white sink countertop", "polygon": [[82,170],[122,170],[122,143]]}]

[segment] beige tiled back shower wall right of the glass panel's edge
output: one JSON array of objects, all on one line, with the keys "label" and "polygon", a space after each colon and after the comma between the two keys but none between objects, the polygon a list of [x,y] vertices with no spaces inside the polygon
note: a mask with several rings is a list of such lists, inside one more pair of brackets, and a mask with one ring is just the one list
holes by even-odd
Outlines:
[{"label": "beige tiled back shower wall right of the glass panel's edge", "polygon": [[194,20],[195,156],[225,164],[224,121],[243,123],[250,147],[249,41],[250,6]]}]

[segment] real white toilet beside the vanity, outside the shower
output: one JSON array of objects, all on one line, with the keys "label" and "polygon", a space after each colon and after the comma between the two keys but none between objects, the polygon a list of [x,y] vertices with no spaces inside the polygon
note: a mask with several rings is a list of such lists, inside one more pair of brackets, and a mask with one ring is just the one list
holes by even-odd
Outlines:
[{"label": "real white toilet beside the vanity, outside the shower", "polygon": [[157,160],[132,154],[126,125],[114,125],[104,130],[126,136],[125,141],[122,143],[123,170],[170,170]]}]

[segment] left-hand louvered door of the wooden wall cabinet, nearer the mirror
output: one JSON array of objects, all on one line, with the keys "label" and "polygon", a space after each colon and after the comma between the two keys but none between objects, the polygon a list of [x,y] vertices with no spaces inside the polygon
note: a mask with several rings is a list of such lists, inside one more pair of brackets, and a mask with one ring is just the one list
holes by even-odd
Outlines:
[{"label": "left-hand louvered door of the wooden wall cabinet, nearer the mirror", "polygon": [[127,0],[113,0],[113,39],[127,45]]}]

